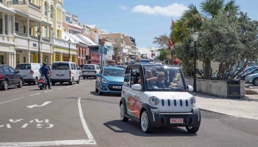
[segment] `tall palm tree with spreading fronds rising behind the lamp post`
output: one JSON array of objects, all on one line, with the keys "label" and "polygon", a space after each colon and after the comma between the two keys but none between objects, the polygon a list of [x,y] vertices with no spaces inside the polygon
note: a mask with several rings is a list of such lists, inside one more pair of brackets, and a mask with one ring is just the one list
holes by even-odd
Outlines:
[{"label": "tall palm tree with spreading fronds rising behind the lamp post", "polygon": [[[179,21],[172,26],[171,36],[176,41],[182,41],[182,38],[188,38],[194,29],[201,31],[201,24],[204,19],[211,20],[214,16],[228,12],[230,9],[238,11],[240,6],[235,4],[235,0],[204,0],[201,2],[201,12],[198,11],[194,4],[188,6]],[[212,49],[213,47],[210,47]],[[211,56],[203,59],[204,62],[204,75],[205,79],[210,78],[211,72]]]}]

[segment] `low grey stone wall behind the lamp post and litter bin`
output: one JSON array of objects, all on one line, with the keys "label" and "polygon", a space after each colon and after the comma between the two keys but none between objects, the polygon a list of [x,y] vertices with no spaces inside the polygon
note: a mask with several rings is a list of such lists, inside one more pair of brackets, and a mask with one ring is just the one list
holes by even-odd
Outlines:
[{"label": "low grey stone wall behind the lamp post and litter bin", "polygon": [[[194,78],[186,76],[185,82],[187,85],[194,85]],[[206,80],[196,78],[197,92],[228,98],[228,81]],[[240,80],[240,97],[245,97],[245,81]]]}]

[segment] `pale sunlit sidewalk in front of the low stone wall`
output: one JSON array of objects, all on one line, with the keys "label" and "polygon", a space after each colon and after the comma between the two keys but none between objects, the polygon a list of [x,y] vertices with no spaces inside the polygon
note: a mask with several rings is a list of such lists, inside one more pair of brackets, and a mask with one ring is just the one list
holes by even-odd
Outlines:
[{"label": "pale sunlit sidewalk in front of the low stone wall", "polygon": [[200,109],[236,117],[258,120],[258,95],[246,95],[241,99],[220,98],[202,93],[189,92],[196,98]]}]

